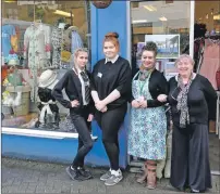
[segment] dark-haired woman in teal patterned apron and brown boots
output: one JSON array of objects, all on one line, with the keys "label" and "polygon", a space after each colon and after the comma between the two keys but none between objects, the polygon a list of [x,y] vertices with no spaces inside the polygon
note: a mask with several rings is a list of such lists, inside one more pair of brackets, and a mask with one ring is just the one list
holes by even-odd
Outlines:
[{"label": "dark-haired woman in teal patterned apron and brown boots", "polygon": [[168,92],[168,82],[155,68],[157,46],[148,42],[142,52],[142,65],[132,81],[131,127],[129,154],[146,159],[145,173],[137,180],[147,179],[147,187],[156,187],[157,160],[166,158],[167,118],[163,104],[157,96]]}]

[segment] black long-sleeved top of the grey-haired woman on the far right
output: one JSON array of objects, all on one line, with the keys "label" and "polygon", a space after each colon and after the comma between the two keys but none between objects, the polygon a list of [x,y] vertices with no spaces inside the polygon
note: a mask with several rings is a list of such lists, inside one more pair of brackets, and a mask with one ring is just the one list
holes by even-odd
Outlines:
[{"label": "black long-sleeved top of the grey-haired woman on the far right", "polygon": [[[180,92],[175,77],[169,81],[169,103],[171,105],[173,124],[180,126],[180,112],[176,108],[176,98]],[[209,80],[196,75],[191,83],[187,104],[191,124],[208,124],[209,112],[215,112],[217,93]]]}]

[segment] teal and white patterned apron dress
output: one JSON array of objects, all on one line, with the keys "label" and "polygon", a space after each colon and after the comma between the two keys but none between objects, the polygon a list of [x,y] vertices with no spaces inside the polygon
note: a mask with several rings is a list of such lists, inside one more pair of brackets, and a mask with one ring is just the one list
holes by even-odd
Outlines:
[{"label": "teal and white patterned apron dress", "polygon": [[[144,96],[151,100],[149,78],[132,82],[134,99]],[[144,86],[144,87],[139,87]],[[142,91],[142,92],[140,92]],[[144,159],[159,160],[166,158],[167,118],[163,106],[148,108],[131,108],[131,125],[129,130],[129,154]]]}]

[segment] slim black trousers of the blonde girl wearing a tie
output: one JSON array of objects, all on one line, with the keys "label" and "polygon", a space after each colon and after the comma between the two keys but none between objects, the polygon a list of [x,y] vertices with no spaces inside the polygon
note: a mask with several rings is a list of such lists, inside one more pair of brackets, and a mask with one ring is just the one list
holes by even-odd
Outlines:
[{"label": "slim black trousers of the blonde girl wearing a tie", "polygon": [[71,120],[78,132],[78,150],[73,160],[72,166],[74,168],[83,167],[85,156],[93,147],[93,140],[90,137],[90,122],[87,121],[89,115],[88,106],[83,106],[77,114],[71,113]]}]

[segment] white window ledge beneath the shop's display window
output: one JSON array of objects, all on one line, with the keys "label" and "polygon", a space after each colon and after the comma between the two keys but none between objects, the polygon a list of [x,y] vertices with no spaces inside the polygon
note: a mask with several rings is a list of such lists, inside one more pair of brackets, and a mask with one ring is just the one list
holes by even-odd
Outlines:
[{"label": "white window ledge beneath the shop's display window", "polygon": [[[48,139],[78,139],[78,133],[2,127],[1,133]],[[98,137],[91,135],[95,141]]]}]

